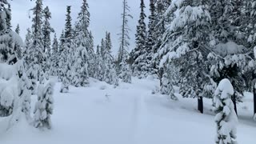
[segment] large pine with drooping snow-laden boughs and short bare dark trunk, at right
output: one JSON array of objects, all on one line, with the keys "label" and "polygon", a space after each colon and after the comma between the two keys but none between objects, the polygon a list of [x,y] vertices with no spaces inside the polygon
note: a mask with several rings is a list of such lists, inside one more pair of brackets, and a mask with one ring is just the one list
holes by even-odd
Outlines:
[{"label": "large pine with drooping snow-laden boughs and short bare dark trunk, at right", "polygon": [[201,1],[173,1],[166,11],[166,20],[170,25],[159,50],[159,55],[163,55],[161,66],[171,62],[178,67],[181,94],[198,98],[201,113],[204,86],[210,82],[205,75],[211,19],[208,8]]}]

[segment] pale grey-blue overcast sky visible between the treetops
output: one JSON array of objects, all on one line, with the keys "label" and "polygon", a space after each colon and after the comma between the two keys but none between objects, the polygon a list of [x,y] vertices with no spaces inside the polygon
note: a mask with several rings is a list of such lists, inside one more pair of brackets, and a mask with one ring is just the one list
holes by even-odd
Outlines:
[{"label": "pale grey-blue overcast sky visible between the treetops", "polygon": [[[149,1],[146,0],[146,11],[149,10]],[[106,30],[112,34],[112,41],[114,45],[114,53],[118,50],[118,36],[120,33],[120,26],[122,25],[122,0],[88,0],[90,6],[90,30],[94,34],[94,45],[98,45],[101,39],[105,37]],[[130,49],[134,48],[134,34],[136,32],[136,25],[138,24],[138,17],[140,13],[140,1],[128,0],[130,6],[130,14],[134,16],[130,20]],[[43,0],[44,7],[49,6],[52,13],[51,25],[56,30],[58,36],[62,32],[65,25],[66,6],[71,7],[73,23],[77,18],[82,0]],[[19,23],[21,27],[21,36],[24,39],[26,29],[31,26],[31,18],[33,17],[30,9],[34,7],[34,2],[30,0],[13,0],[12,7],[12,26],[15,29]],[[31,18],[29,18],[31,16]]]}]

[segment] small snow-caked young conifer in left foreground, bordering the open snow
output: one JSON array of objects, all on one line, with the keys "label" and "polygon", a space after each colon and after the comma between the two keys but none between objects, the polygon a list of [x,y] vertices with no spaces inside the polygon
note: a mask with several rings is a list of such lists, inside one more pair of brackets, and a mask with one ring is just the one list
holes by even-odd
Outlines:
[{"label": "small snow-caked young conifer in left foreground, bordering the open snow", "polygon": [[54,82],[38,86],[38,102],[34,109],[34,126],[36,128],[51,128],[50,115],[54,110]]}]

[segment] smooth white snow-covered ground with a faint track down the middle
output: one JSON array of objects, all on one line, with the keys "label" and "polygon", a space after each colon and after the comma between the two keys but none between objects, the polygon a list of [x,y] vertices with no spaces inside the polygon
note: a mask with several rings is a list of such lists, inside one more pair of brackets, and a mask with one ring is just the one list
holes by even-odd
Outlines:
[{"label": "smooth white snow-covered ground with a faint track down the middle", "polygon": [[[196,99],[151,94],[157,81],[133,79],[114,89],[91,79],[89,88],[71,87],[69,94],[54,94],[53,129],[40,131],[26,122],[7,129],[8,118],[0,118],[1,144],[210,144],[214,143],[214,113],[205,99],[205,114],[196,110]],[[246,94],[238,106],[238,142],[256,142],[252,120],[252,97]],[[36,98],[33,98],[35,101]]]}]

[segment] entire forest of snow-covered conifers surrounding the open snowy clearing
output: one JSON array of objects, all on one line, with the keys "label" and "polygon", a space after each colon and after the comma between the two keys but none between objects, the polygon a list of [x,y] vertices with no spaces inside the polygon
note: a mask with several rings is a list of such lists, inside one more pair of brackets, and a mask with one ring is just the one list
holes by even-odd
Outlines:
[{"label": "entire forest of snow-covered conifers surrounding the open snowy clearing", "polygon": [[[133,16],[129,1],[123,0],[120,46],[113,55],[107,30],[102,42],[94,43],[86,0],[76,18],[71,17],[73,7],[66,6],[60,38],[50,25],[50,8],[34,0],[32,26],[24,41],[20,27],[11,26],[10,3],[0,0],[0,116],[10,116],[10,126],[26,118],[36,128],[50,129],[53,76],[62,83],[60,93],[69,93],[70,86],[90,86],[89,78],[114,88],[120,82],[132,83],[132,77],[156,78],[158,93],[178,101],[178,86],[183,98],[197,98],[202,114],[203,100],[211,99],[216,143],[235,143],[237,104],[245,91],[254,94],[251,117],[256,119],[256,1],[150,0],[149,15],[144,1],[140,0],[136,45],[131,47]],[[34,94],[38,102],[31,106]]]}]

